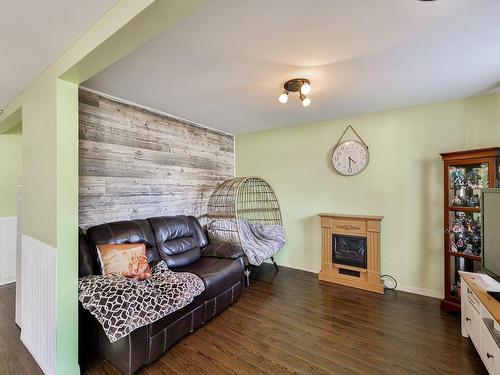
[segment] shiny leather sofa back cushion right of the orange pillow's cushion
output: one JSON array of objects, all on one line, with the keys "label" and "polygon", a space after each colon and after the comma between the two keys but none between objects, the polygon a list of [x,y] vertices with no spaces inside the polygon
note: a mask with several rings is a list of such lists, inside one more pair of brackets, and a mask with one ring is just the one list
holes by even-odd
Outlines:
[{"label": "shiny leather sofa back cushion right of the orange pillow's cushion", "polygon": [[183,267],[200,258],[200,240],[187,216],[162,216],[148,220],[160,256],[169,268]]}]

